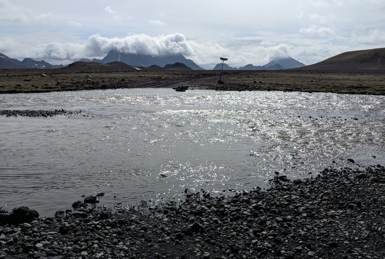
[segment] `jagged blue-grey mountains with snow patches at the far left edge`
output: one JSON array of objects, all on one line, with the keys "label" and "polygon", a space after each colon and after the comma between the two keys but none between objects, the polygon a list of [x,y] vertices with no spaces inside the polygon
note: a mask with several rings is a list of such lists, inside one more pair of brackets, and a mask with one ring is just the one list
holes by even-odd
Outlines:
[{"label": "jagged blue-grey mountains with snow patches at the far left edge", "polygon": [[57,69],[62,67],[63,65],[51,65],[44,60],[37,61],[30,58],[25,58],[23,61],[20,61],[0,53],[0,69]]}]

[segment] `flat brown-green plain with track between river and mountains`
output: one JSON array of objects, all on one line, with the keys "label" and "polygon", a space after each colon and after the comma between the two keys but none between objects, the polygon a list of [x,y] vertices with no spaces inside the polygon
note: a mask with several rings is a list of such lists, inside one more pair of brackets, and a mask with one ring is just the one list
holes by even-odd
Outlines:
[{"label": "flat brown-green plain with track between river and mountains", "polygon": [[385,71],[0,70],[1,93],[189,86],[223,91],[299,91],[385,95]]}]

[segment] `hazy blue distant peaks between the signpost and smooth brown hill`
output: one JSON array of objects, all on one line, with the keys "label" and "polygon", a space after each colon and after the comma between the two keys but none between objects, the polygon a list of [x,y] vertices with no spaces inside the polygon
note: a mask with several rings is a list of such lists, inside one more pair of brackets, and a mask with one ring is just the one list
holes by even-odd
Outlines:
[{"label": "hazy blue distant peaks between the signpost and smooth brown hill", "polygon": [[[224,70],[281,70],[281,69],[291,69],[291,68],[300,68],[304,67],[305,64],[293,59],[293,58],[284,58],[277,61],[272,60],[269,63],[263,66],[254,66],[253,64],[248,64],[244,67],[233,68],[227,64],[223,65]],[[220,70],[222,68],[222,63],[218,63],[213,70]]]}]

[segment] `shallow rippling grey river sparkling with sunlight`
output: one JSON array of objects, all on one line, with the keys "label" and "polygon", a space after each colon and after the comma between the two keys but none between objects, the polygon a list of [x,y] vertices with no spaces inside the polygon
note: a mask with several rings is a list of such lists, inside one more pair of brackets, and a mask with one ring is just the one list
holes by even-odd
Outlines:
[{"label": "shallow rippling grey river sparkling with sunlight", "polygon": [[0,116],[0,207],[45,216],[83,194],[177,201],[185,188],[267,188],[275,171],[385,164],[384,96],[118,89],[3,94],[0,109],[82,110]]}]

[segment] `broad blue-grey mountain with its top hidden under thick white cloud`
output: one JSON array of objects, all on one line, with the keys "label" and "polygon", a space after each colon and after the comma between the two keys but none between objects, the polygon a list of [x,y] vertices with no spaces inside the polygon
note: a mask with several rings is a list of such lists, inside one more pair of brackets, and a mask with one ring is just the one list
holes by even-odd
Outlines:
[{"label": "broad blue-grey mountain with its top hidden under thick white cloud", "polygon": [[169,55],[169,56],[150,56],[132,53],[123,53],[116,50],[111,50],[107,56],[102,60],[94,59],[93,62],[109,63],[113,61],[120,61],[132,66],[150,67],[157,65],[164,67],[168,64],[183,63],[193,70],[205,70],[198,66],[194,61],[186,59],[183,55]]}]

